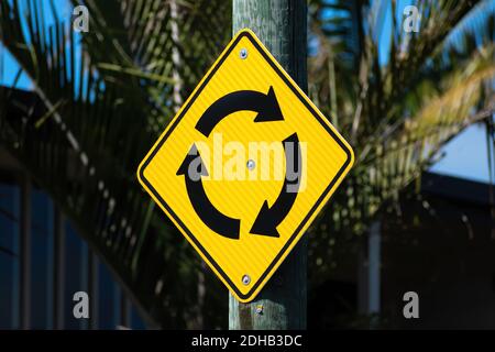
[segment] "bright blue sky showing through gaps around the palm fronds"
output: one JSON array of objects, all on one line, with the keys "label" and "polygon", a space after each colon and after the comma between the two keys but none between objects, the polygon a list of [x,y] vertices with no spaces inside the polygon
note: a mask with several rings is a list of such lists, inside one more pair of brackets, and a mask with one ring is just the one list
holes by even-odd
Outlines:
[{"label": "bright blue sky showing through gaps around the palm fronds", "polygon": [[[3,0],[2,0],[3,1]],[[11,1],[11,0],[9,0]],[[58,18],[69,19],[72,8],[67,0],[54,0],[55,10]],[[54,23],[52,8],[48,0],[41,0],[45,13],[47,24]],[[413,3],[410,0],[397,1],[397,20],[400,23],[403,19],[403,10],[406,6]],[[392,24],[392,10],[386,7],[384,21],[384,32],[382,34],[380,45],[380,62],[386,64],[389,47],[389,32]],[[0,43],[0,51],[4,48]],[[3,56],[3,63],[0,66],[0,85],[11,86],[19,72],[19,65],[15,59],[7,53]],[[25,74],[22,74],[16,82],[16,88],[30,90],[32,84]],[[481,125],[473,125],[463,131],[454,140],[452,140],[442,151],[444,157],[431,167],[431,172],[468,178],[477,182],[488,182],[488,164],[487,164],[487,144],[485,130]]]}]

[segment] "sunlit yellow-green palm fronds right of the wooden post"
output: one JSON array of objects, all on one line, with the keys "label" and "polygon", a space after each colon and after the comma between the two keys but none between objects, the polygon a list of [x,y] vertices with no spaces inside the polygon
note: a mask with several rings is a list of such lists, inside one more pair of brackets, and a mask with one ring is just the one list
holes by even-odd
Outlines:
[{"label": "sunlit yellow-green palm fronds right of the wooden post", "polygon": [[[443,145],[473,123],[492,123],[495,6],[421,1],[419,31],[408,33],[396,1],[311,4],[319,48],[309,64],[311,98],[356,154],[352,175],[309,230],[316,284],[337,265],[328,258],[349,252],[374,221],[400,215],[400,196],[419,197],[419,187],[409,185],[441,157]],[[493,144],[493,129],[486,131]]]}]

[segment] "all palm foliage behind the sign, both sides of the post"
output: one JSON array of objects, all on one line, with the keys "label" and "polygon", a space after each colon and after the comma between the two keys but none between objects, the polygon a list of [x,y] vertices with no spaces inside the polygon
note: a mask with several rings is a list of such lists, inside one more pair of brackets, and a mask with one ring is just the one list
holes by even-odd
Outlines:
[{"label": "all palm foliage behind the sign, both sides of the post", "polygon": [[[88,8],[88,33],[70,31],[55,10],[47,26],[36,1],[1,2],[0,38],[37,97],[15,121],[8,107],[25,105],[25,94],[1,90],[1,145],[51,194],[150,321],[190,327],[204,299],[200,262],[134,175],[229,41],[231,3],[73,3]],[[309,231],[315,279],[331,271],[318,258],[332,254],[336,239],[365,234],[442,145],[493,113],[490,1],[421,2],[419,33],[404,33],[393,16],[381,63],[384,3],[310,1],[317,43],[310,96],[356,153],[352,174]],[[395,13],[395,1],[392,7]],[[222,290],[212,292],[211,307],[227,304]]]}]

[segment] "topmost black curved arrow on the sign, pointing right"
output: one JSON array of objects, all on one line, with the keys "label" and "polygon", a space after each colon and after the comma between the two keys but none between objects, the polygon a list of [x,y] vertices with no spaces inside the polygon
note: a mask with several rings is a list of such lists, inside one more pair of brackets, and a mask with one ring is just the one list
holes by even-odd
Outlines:
[{"label": "topmost black curved arrow on the sign, pointing right", "polygon": [[242,110],[256,111],[254,122],[284,120],[273,87],[270,87],[266,95],[255,90],[239,90],[213,102],[199,119],[196,130],[209,136],[222,119]]}]

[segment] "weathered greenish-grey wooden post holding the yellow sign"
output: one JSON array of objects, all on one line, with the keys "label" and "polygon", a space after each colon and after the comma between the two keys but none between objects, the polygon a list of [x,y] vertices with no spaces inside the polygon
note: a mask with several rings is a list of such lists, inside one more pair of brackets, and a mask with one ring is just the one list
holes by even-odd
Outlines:
[{"label": "weathered greenish-grey wooden post holding the yellow sign", "polygon": [[[306,0],[233,0],[233,33],[249,28],[307,90]],[[256,299],[229,297],[230,329],[305,329],[307,245],[301,239]]]}]

